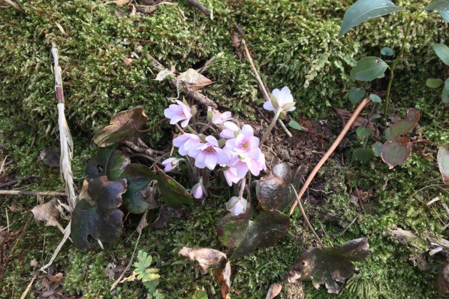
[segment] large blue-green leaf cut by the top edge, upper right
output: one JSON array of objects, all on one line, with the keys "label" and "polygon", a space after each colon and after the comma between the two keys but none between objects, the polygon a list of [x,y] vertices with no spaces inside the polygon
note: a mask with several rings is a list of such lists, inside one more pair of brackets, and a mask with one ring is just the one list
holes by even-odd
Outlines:
[{"label": "large blue-green leaf cut by the top edge, upper right", "polygon": [[366,20],[399,10],[402,8],[390,0],[358,0],[346,11],[338,37]]}]

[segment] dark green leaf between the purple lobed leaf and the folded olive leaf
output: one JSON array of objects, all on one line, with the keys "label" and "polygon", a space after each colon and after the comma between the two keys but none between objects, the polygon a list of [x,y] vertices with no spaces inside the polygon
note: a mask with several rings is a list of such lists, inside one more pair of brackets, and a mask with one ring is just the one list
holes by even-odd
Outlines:
[{"label": "dark green leaf between the purple lobed leaf and the folded olive leaf", "polygon": [[159,176],[145,165],[131,163],[120,178],[126,178],[128,188],[123,194],[123,206],[133,214],[142,214],[147,209],[159,207],[154,198],[154,194],[146,192],[146,187],[152,180],[158,180]]}]

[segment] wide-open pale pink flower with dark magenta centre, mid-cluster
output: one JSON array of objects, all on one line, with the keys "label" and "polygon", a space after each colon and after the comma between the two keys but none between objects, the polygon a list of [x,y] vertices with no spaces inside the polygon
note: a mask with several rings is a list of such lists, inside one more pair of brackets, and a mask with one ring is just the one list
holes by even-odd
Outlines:
[{"label": "wide-open pale pink flower with dark magenta centre, mid-cluster", "polygon": [[214,170],[217,163],[227,164],[229,157],[223,149],[220,149],[217,139],[214,136],[208,136],[206,141],[207,143],[201,143],[189,150],[189,155],[195,158],[195,166]]}]

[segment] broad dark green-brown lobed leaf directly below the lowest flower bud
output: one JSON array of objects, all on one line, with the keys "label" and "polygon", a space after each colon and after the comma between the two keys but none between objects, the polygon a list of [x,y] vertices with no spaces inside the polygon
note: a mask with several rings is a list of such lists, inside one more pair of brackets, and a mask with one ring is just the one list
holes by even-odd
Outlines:
[{"label": "broad dark green-brown lobed leaf directly below the lowest flower bud", "polygon": [[251,254],[257,247],[271,247],[287,234],[290,218],[282,212],[261,211],[254,220],[249,220],[251,214],[248,203],[245,213],[238,216],[227,213],[219,219],[219,240],[226,247],[235,247],[230,260]]}]

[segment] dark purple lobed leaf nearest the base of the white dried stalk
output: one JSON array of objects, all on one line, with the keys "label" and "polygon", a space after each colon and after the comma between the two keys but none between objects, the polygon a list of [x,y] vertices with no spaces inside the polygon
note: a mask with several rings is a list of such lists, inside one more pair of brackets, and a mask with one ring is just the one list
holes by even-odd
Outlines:
[{"label": "dark purple lobed leaf nearest the base of the white dried stalk", "polygon": [[70,228],[76,248],[94,249],[96,245],[88,241],[89,236],[103,242],[117,240],[123,225],[123,212],[117,208],[125,192],[125,179],[109,181],[106,176],[100,176],[89,182],[87,193],[97,204],[92,206],[82,199],[73,210]]}]

